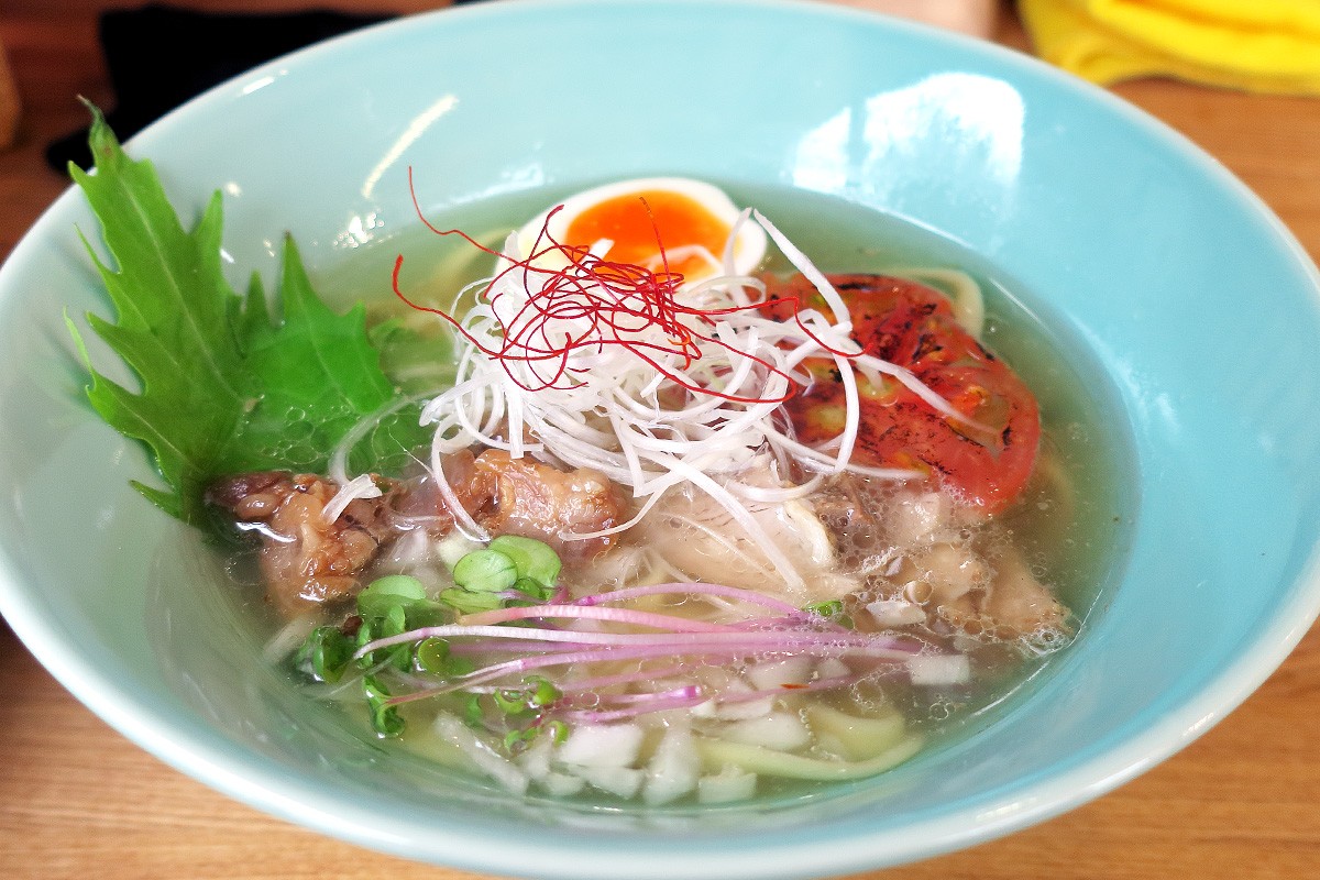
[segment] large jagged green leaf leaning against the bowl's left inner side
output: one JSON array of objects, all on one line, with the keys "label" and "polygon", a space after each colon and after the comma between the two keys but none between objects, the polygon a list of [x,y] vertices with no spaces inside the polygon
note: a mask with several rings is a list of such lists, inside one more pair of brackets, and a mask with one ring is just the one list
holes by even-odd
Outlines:
[{"label": "large jagged green leaf leaning against the bowl's left inner side", "polygon": [[[288,237],[282,315],[271,315],[256,277],[244,294],[235,293],[220,263],[220,194],[185,230],[152,164],[129,158],[100,112],[91,112],[95,173],[70,166],[70,174],[102,224],[110,261],[83,241],[115,321],[90,314],[87,322],[141,389],[88,361],[87,394],[106,422],[150,449],[166,488],[137,484],[139,491],[203,525],[203,492],[216,476],[273,468],[323,474],[345,434],[396,398],[363,307],[343,315],[329,309]],[[414,408],[388,412],[354,447],[350,468],[395,471],[425,441]]]}]

